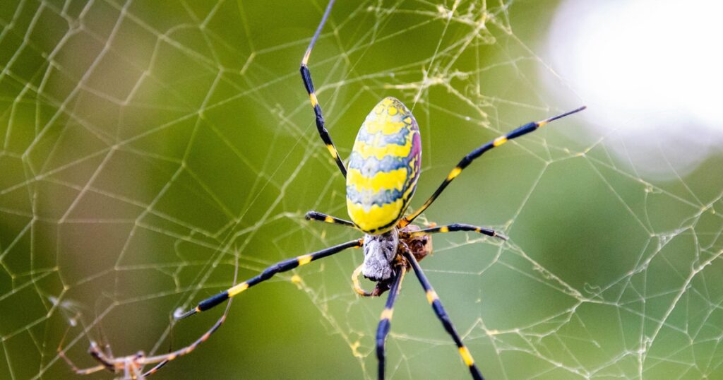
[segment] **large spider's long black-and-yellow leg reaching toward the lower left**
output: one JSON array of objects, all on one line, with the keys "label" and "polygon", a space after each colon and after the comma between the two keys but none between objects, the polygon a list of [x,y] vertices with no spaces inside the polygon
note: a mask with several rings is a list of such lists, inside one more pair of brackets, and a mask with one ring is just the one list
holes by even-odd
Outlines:
[{"label": "large spider's long black-and-yellow leg reaching toward the lower left", "polygon": [[264,282],[268,279],[270,279],[273,275],[285,271],[290,271],[291,269],[294,269],[298,266],[305,265],[307,263],[310,263],[312,261],[318,260],[320,258],[325,258],[327,256],[331,256],[334,253],[339,253],[342,250],[346,250],[346,248],[356,248],[361,247],[361,245],[364,243],[364,240],[358,239],[358,240],[351,240],[349,242],[345,242],[340,245],[335,245],[330,248],[326,248],[324,250],[319,250],[314,253],[308,253],[307,255],[301,255],[296,258],[290,258],[285,261],[281,261],[278,263],[275,263],[272,266],[269,266],[267,269],[261,272],[258,276],[254,276],[251,279],[248,279],[247,281],[241,282],[240,284],[234,285],[234,287],[228,288],[228,290],[224,290],[223,292],[218,293],[217,295],[214,295],[213,297],[208,297],[205,300],[202,300],[195,308],[192,308],[191,310],[187,311],[186,313],[182,313],[179,316],[176,316],[176,319],[183,319],[187,318],[189,316],[194,315],[195,313],[200,313],[201,311],[207,311],[210,308],[213,308],[215,305],[218,305],[219,303],[222,303],[225,300],[228,300],[228,298],[234,297],[236,295],[239,295],[244,290],[249,289],[249,287],[254,286],[255,284],[259,284],[260,282]]}]

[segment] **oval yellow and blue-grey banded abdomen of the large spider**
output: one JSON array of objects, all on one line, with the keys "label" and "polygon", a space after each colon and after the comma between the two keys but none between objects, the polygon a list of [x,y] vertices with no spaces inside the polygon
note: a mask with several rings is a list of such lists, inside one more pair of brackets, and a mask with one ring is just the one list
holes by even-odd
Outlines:
[{"label": "oval yellow and blue-grey banded abdomen of the large spider", "polygon": [[422,159],[419,126],[396,98],[384,98],[364,119],[346,176],[346,208],[367,234],[387,232],[414,195]]}]

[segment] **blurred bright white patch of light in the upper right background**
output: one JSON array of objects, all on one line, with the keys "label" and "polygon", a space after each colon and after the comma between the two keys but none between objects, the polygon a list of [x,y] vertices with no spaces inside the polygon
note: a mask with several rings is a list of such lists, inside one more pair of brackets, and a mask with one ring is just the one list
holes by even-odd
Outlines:
[{"label": "blurred bright white patch of light in the upper right background", "polygon": [[720,149],[721,14],[714,0],[566,0],[557,9],[552,68],[588,104],[581,116],[596,135],[636,170],[675,177]]}]

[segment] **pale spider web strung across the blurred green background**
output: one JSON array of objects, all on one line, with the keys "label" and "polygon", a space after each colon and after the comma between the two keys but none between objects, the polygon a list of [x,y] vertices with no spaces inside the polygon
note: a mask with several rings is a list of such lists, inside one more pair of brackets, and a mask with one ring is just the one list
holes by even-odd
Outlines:
[{"label": "pale spider web strung across the blurred green background", "polygon": [[[231,285],[234,258],[247,278],[358,237],[303,218],[346,215],[298,74],[325,4],[201,3],[0,7],[0,377],[69,377],[59,347],[94,366],[91,340],[182,347],[221,311],[171,314]],[[553,7],[340,3],[312,54],[317,95],[343,157],[380,98],[413,109],[411,207],[476,146],[583,104],[534,48]],[[656,181],[609,153],[635,149],[623,127],[581,123],[485,155],[427,210],[511,237],[435,236],[422,267],[450,317],[491,379],[723,376],[722,157]],[[375,377],[384,299],[351,291],[360,262],[339,253],[244,292],[156,376]],[[413,276],[387,347],[390,378],[468,376]]]}]

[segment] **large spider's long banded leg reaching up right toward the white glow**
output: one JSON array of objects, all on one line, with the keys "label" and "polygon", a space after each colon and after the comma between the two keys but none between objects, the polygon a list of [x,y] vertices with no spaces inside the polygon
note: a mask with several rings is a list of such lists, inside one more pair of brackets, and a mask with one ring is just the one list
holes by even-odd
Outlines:
[{"label": "large spider's long banded leg reaching up right toward the white glow", "polygon": [[457,166],[452,169],[450,174],[447,174],[447,178],[445,178],[444,181],[442,181],[442,185],[440,187],[437,187],[437,190],[435,190],[435,193],[432,194],[429,199],[427,199],[426,202],[422,205],[422,207],[417,208],[414,213],[412,213],[410,216],[407,216],[406,218],[402,219],[399,222],[398,227],[406,227],[408,224],[411,223],[411,221],[414,221],[419,214],[422,214],[424,210],[426,210],[429,206],[434,203],[435,199],[437,199],[438,196],[442,193],[442,191],[445,190],[445,187],[452,182],[456,177],[459,176],[459,174],[469,166],[469,164],[472,163],[475,159],[479,158],[479,156],[482,156],[484,152],[489,151],[492,148],[497,148],[498,146],[507,143],[509,140],[512,140],[513,138],[518,138],[522,135],[526,135],[529,132],[533,132],[534,130],[537,130],[537,128],[542,127],[544,124],[547,124],[549,122],[554,122],[557,119],[560,119],[562,117],[566,117],[571,114],[575,114],[579,111],[582,111],[583,109],[586,109],[585,106],[582,106],[578,109],[573,109],[572,111],[565,112],[564,114],[559,114],[555,117],[550,117],[549,119],[544,119],[539,122],[530,122],[528,124],[524,124],[521,127],[518,127],[517,129],[513,130],[512,132],[509,132],[507,135],[502,135],[498,138],[495,138],[495,140],[489,141],[488,143],[480,146],[479,148],[476,148],[474,151],[471,151],[467,156],[464,156],[461,161],[457,164]]}]

